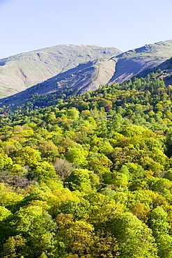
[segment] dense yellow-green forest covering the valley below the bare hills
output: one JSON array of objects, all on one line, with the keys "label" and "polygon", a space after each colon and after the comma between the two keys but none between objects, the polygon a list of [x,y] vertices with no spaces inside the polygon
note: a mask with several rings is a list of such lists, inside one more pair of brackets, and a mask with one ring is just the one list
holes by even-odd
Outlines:
[{"label": "dense yellow-green forest covering the valley below the bare hills", "polygon": [[0,113],[0,257],[172,257],[172,86],[157,73]]}]

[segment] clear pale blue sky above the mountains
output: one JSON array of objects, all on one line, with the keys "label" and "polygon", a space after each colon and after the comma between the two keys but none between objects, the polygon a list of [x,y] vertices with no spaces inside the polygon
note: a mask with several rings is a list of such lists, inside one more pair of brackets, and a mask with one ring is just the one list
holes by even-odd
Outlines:
[{"label": "clear pale blue sky above the mountains", "polygon": [[172,40],[172,0],[0,0],[0,59],[61,44],[127,51]]}]

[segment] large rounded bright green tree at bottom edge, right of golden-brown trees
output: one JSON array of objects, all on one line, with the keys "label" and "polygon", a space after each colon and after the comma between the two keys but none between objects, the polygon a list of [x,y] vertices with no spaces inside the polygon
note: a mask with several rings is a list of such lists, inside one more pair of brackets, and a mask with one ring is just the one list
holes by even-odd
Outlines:
[{"label": "large rounded bright green tree at bottom edge, right of golden-brown trees", "polygon": [[120,257],[157,258],[152,231],[132,213],[123,213],[111,224],[111,232],[118,241]]}]

